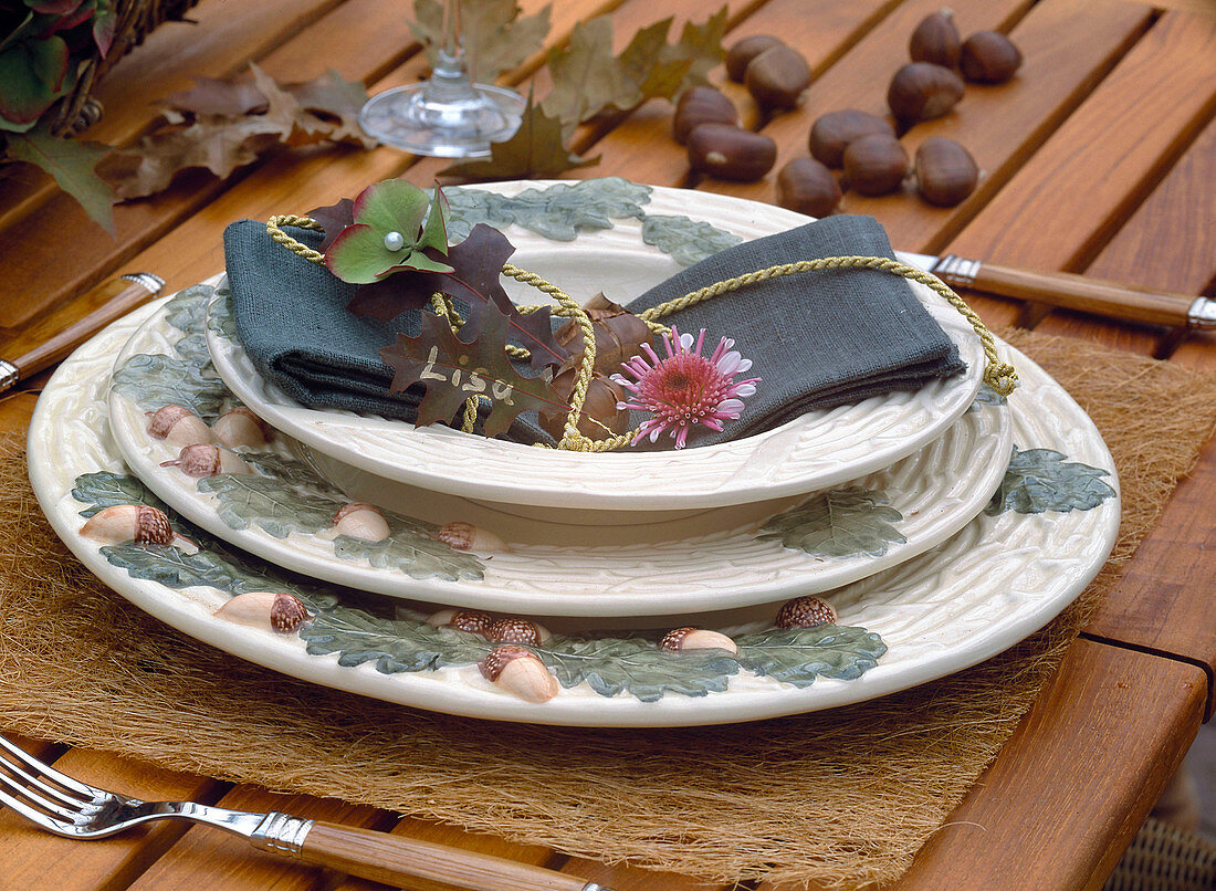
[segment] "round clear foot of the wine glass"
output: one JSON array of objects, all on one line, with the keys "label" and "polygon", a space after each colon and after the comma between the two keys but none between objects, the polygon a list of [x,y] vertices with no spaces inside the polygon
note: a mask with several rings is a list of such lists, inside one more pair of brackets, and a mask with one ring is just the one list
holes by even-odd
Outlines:
[{"label": "round clear foot of the wine glass", "polygon": [[415,154],[484,157],[491,142],[519,128],[524,98],[501,86],[461,86],[447,95],[432,81],[385,90],[362,107],[359,124],[368,136]]}]

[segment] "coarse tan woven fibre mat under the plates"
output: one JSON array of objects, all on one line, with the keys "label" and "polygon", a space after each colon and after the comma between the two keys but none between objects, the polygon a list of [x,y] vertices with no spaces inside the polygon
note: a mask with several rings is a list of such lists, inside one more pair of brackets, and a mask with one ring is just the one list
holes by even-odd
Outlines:
[{"label": "coarse tan woven fibre mat under the plates", "polygon": [[952,677],[679,731],[490,723],[313,687],[196,643],[96,582],[43,520],[10,439],[0,727],[706,881],[889,881],[1013,732],[1216,423],[1216,374],[1071,339],[1010,340],[1093,416],[1125,519],[1073,607]]}]

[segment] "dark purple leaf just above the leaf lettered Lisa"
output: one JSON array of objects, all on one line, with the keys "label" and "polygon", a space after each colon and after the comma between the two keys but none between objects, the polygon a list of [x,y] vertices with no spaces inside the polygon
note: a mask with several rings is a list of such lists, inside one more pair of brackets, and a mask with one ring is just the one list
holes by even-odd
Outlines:
[{"label": "dark purple leaf just above the leaf lettered Lisa", "polygon": [[390,322],[411,309],[422,309],[434,293],[449,294],[468,306],[474,326],[486,306],[505,314],[512,338],[531,353],[531,367],[561,365],[565,350],[553,339],[548,308],[522,315],[502,287],[502,266],[514,253],[507,237],[496,229],[478,224],[468,238],[447,248],[452,272],[410,272],[392,275],[364,284],[351,298],[351,312]]}]

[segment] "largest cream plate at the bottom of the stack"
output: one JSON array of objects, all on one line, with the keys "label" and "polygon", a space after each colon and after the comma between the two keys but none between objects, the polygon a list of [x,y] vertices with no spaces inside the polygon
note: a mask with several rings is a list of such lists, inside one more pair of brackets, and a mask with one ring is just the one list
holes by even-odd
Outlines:
[{"label": "largest cream plate at the bottom of the stack", "polygon": [[[1092,509],[981,514],[938,548],[828,593],[840,625],[878,632],[886,644],[877,665],[856,679],[821,677],[796,687],[741,670],[725,678],[721,692],[698,697],[669,692],[657,701],[642,701],[629,693],[601,695],[582,682],[563,688],[548,703],[530,704],[491,686],[472,664],[411,671],[392,660],[313,655],[297,635],[275,635],[218,619],[214,610],[230,596],[224,591],[204,583],[168,587],[168,582],[156,580],[167,580],[167,575],[116,565],[97,542],[80,536],[85,504],[72,495],[78,478],[129,473],[108,436],[108,373],[112,357],[153,311],[137,311],[94,338],[60,367],[39,399],[29,434],[30,479],[56,531],[107,585],[187,635],[294,677],[405,705],[510,721],[666,727],[748,721],[857,703],[973,665],[1047,622],[1098,571],[1119,526],[1115,497],[1098,501]],[[1026,450],[1058,450],[1068,462],[1109,469],[1110,455],[1081,408],[1037,366],[1014,356],[1025,387],[1010,397],[1014,442]],[[1017,411],[1028,393],[1034,393],[1032,404]],[[1080,473],[1096,484],[1094,474]],[[1049,475],[1047,479],[1046,490],[1037,489],[1040,495],[1053,491]],[[1114,475],[1104,479],[1118,487]],[[351,596],[337,591],[337,597],[347,602]],[[753,628],[767,627],[773,609],[754,610]],[[743,620],[732,615],[702,621],[721,627]],[[405,636],[412,627],[416,624],[404,622],[400,633]],[[724,630],[739,633],[733,627]]]}]

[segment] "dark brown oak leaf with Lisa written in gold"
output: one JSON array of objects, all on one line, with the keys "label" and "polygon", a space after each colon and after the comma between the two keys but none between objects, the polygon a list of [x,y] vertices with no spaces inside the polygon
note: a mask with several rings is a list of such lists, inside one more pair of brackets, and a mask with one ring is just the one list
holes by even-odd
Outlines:
[{"label": "dark brown oak leaf with Lisa written in gold", "polygon": [[[467,323],[462,333],[473,327]],[[418,404],[418,427],[450,422],[473,395],[490,402],[483,421],[486,436],[506,433],[524,411],[569,411],[546,377],[525,378],[512,366],[506,351],[507,316],[497,306],[482,309],[475,331],[472,340],[462,340],[446,318],[423,312],[421,335],[398,334],[395,344],[381,350],[381,359],[395,372],[389,393],[417,383],[427,388]]]}]

